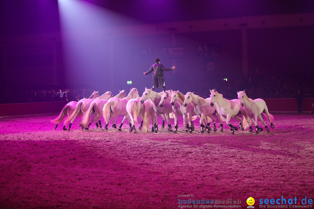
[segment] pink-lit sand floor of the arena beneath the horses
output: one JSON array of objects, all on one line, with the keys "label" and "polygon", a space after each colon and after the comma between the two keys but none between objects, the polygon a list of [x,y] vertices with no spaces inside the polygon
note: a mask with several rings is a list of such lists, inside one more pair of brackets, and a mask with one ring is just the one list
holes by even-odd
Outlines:
[{"label": "pink-lit sand floor of the arena beneath the horses", "polygon": [[78,120],[52,131],[54,117],[0,118],[0,208],[178,208],[184,194],[242,208],[252,196],[257,208],[259,198],[314,198],[313,114],[274,113],[275,129],[257,135],[231,135],[225,123],[223,133],[200,134],[198,120],[188,134],[182,117],[177,134],[128,133],[127,123],[83,132]]}]

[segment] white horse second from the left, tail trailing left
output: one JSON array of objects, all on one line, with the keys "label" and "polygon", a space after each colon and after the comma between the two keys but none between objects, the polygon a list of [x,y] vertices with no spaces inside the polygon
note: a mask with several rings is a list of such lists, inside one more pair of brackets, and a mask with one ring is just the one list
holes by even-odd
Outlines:
[{"label": "white horse second from the left, tail trailing left", "polygon": [[[71,123],[69,124],[68,129],[66,129],[67,131],[70,131],[71,125],[73,123],[73,121],[75,120],[76,116],[78,116],[78,114],[80,112],[82,112],[83,114],[88,110],[89,105],[96,99],[109,99],[112,97],[112,93],[110,91],[107,91],[106,93],[104,93],[103,95],[101,95],[100,97],[96,97],[95,99],[81,99],[75,107],[74,112],[67,118],[65,119],[64,123],[68,123],[69,121],[71,121]],[[64,127],[65,128],[65,127]]]}]

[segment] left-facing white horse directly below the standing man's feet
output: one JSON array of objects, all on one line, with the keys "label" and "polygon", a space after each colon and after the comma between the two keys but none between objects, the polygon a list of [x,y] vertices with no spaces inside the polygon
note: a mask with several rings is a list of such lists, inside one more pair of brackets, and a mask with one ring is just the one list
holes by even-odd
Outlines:
[{"label": "left-facing white horse directly below the standing man's feet", "polygon": [[151,89],[148,89],[145,87],[145,91],[143,93],[143,96],[140,100],[140,102],[143,104],[146,100],[150,99],[154,104],[154,111],[155,111],[155,124],[154,124],[154,132],[158,132],[158,115],[165,114],[165,117],[167,119],[168,123],[168,131],[172,131],[171,124],[170,124],[170,114],[172,113],[172,108],[169,103],[166,103],[165,105],[159,105],[159,102],[161,100],[161,95],[155,91],[152,91]]}]

